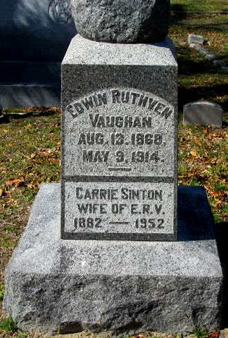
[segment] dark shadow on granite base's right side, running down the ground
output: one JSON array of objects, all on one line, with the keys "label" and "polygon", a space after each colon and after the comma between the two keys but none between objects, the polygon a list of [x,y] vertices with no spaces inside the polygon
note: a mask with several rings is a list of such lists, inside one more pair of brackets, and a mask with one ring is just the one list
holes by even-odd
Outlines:
[{"label": "dark shadow on granite base's right side, running down the ground", "polygon": [[228,222],[214,224],[214,217],[202,186],[178,186],[178,241],[216,239],[224,275],[221,328],[228,327]]}]

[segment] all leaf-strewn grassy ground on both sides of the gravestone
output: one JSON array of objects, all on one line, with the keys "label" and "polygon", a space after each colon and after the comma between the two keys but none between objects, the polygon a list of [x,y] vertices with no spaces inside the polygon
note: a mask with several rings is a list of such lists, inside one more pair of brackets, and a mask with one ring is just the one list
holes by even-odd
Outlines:
[{"label": "all leaf-strewn grassy ground on both sides of the gravestone", "polygon": [[[228,64],[228,14],[186,14],[184,10],[227,10],[227,0],[173,0],[174,13],[169,35],[174,41],[187,41],[189,33],[202,34],[211,42],[211,52]],[[191,3],[191,4],[190,4]],[[228,163],[228,75],[189,46],[177,45],[179,66],[178,88],[178,183],[204,186],[216,223],[227,221],[227,163]],[[190,101],[213,101],[222,106],[222,128],[187,126],[181,123],[183,104]],[[45,113],[9,115],[0,124],[0,301],[4,292],[4,269],[28,222],[32,201],[42,182],[60,181],[61,111],[59,108],[18,110],[17,112]],[[43,337],[20,332],[10,319],[0,313],[0,337]],[[178,337],[153,333],[147,337]],[[227,334],[228,336],[228,334]],[[65,338],[68,336],[65,335]],[[88,334],[77,338],[105,338]],[[144,335],[136,336],[144,338]],[[207,333],[196,330],[191,337],[206,338]],[[225,337],[225,336],[224,336]],[[212,332],[209,338],[218,338]]]}]

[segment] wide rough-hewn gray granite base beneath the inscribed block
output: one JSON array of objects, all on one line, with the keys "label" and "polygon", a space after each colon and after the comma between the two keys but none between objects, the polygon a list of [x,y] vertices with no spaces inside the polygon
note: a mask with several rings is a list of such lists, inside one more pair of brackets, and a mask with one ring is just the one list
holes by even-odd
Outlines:
[{"label": "wide rough-hewn gray granite base beneath the inscribed block", "polygon": [[3,309],[19,328],[113,335],[219,328],[223,277],[203,188],[178,188],[176,242],[63,240],[60,190],[41,186],[6,269]]}]

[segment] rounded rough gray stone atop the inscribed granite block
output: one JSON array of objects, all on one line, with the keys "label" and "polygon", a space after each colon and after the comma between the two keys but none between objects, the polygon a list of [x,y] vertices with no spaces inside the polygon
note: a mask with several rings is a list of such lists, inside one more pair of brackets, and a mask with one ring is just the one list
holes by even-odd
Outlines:
[{"label": "rounded rough gray stone atop the inscribed granite block", "polygon": [[72,0],[78,32],[118,43],[159,41],[169,28],[169,0]]}]

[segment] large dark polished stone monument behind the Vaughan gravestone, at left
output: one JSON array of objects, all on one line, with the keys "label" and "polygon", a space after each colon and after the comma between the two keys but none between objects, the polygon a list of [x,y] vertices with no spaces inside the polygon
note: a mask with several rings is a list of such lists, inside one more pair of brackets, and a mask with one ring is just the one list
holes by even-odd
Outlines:
[{"label": "large dark polished stone monument behind the Vaughan gravestone, at left", "polygon": [[0,109],[60,106],[70,0],[0,0]]}]

